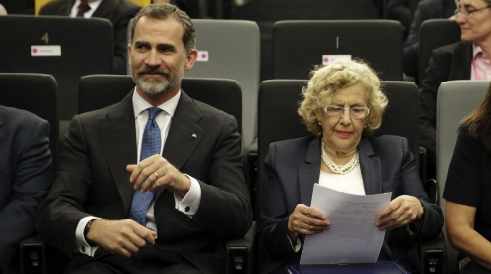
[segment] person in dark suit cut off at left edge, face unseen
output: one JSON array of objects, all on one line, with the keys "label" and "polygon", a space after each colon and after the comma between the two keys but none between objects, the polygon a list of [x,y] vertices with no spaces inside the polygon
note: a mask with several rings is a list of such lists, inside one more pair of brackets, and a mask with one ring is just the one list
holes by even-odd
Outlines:
[{"label": "person in dark suit cut off at left edge, face unseen", "polygon": [[49,124],[25,110],[0,106],[0,273],[19,242],[34,234],[39,204],[52,183]]}]

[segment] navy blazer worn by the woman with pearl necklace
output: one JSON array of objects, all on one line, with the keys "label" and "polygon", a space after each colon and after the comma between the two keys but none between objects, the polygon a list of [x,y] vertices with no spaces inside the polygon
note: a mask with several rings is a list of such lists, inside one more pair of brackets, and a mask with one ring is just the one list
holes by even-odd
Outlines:
[{"label": "navy blazer worn by the woman with pearl necklace", "polygon": [[[425,215],[418,231],[410,233],[408,226],[388,230],[380,254],[381,258],[397,259],[408,269],[416,270],[419,257],[414,242],[439,235],[443,226],[441,209],[430,202],[424,191],[405,138],[362,137],[358,151],[367,195],[392,192],[391,200],[411,195],[423,204]],[[268,182],[258,234],[259,247],[266,255],[262,273],[268,273],[300,259],[301,250],[295,253],[287,238],[288,217],[298,204],[310,206],[313,185],[319,181],[320,137],[272,143],[264,166]]]}]

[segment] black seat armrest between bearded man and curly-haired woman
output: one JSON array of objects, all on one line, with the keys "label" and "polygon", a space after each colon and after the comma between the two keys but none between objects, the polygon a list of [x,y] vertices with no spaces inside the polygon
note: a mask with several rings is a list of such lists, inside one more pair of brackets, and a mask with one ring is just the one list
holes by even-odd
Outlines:
[{"label": "black seat armrest between bearded man and curly-haired woman", "polygon": [[229,240],[226,243],[226,273],[254,273],[254,239],[256,238],[257,223],[252,222],[247,234],[240,239]]}]

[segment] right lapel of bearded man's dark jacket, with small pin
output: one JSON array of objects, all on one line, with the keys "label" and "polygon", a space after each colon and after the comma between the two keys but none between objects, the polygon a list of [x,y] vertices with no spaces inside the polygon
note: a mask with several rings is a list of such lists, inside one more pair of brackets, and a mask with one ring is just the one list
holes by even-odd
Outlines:
[{"label": "right lapel of bearded man's dark jacket, with small pin", "polygon": [[[197,124],[202,116],[192,99],[182,91],[162,153],[178,170],[181,170],[203,137],[203,129]],[[160,188],[155,192],[155,200],[163,190]]]}]

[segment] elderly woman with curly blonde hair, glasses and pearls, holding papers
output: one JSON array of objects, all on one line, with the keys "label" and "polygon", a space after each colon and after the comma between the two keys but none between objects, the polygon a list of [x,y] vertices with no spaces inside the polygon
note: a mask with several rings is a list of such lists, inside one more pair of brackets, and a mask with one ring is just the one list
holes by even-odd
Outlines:
[{"label": "elderly woman with curly blonde hair, glasses and pearls, holding papers", "polygon": [[388,104],[379,78],[361,61],[338,59],[313,71],[302,92],[298,113],[312,135],[272,143],[264,163],[261,273],[288,273],[284,265],[300,260],[304,235],[336,225],[300,194],[312,193],[315,183],[356,195],[391,192],[373,221],[387,230],[379,258],[417,270],[415,243],[436,237],[443,216],[423,189],[407,140],[370,136]]}]

